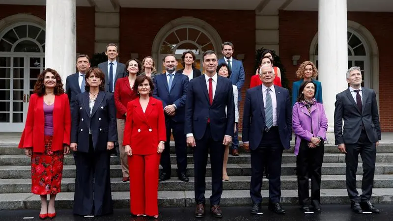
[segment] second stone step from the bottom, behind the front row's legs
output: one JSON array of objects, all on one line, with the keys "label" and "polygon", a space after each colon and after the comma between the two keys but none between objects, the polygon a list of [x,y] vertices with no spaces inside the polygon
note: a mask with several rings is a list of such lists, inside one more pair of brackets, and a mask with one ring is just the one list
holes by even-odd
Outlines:
[{"label": "second stone step from the bottom, behind the front row's legs", "polygon": [[[224,190],[248,190],[250,188],[251,176],[231,176],[229,181],[223,182]],[[362,186],[362,175],[356,176],[358,187]],[[393,175],[377,174],[374,176],[374,188],[393,188]],[[311,183],[311,182],[310,182]],[[193,191],[195,178],[190,177],[189,182],[182,182],[177,178],[171,178],[159,183],[159,191]],[[310,185],[310,184],[309,184]],[[129,182],[122,182],[121,178],[111,178],[113,192],[130,190]],[[262,182],[262,189],[268,190],[268,179]],[[281,176],[281,190],[296,190],[296,176]],[[323,175],[321,189],[345,189],[345,175]],[[211,177],[206,177],[206,189],[211,190]],[[63,178],[61,181],[61,192],[74,192],[75,179]],[[30,193],[31,179],[0,179],[0,193]]]}]

